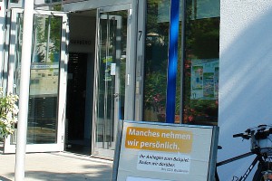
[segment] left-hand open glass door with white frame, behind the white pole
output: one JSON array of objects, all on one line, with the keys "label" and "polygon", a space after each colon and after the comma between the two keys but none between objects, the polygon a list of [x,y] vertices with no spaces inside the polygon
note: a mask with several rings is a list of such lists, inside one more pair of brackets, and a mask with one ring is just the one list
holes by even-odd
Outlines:
[{"label": "left-hand open glass door with white frame, behind the white pole", "polygon": [[[19,95],[23,10],[10,18],[7,90]],[[67,74],[67,15],[34,11],[26,152],[62,151]],[[15,152],[15,135],[5,140],[5,153]]]}]

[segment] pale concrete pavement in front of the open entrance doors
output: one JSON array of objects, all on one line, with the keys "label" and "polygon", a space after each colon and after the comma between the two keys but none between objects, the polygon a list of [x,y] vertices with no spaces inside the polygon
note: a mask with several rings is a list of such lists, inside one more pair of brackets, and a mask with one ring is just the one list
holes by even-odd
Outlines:
[{"label": "pale concrete pavement in front of the open entrance doors", "polygon": [[[25,156],[25,181],[110,181],[112,161],[73,153],[31,153]],[[0,181],[15,180],[15,154],[0,154]]]}]

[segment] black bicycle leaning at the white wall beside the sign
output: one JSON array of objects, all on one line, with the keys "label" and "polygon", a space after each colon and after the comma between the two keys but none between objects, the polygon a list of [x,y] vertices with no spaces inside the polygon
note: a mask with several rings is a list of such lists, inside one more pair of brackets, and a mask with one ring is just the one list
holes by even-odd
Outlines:
[{"label": "black bicycle leaning at the white wall beside the sign", "polygon": [[[216,166],[220,167],[238,159],[256,155],[247,171],[240,177],[233,176],[232,181],[245,181],[257,163],[253,181],[272,181],[272,125],[259,125],[255,128],[247,129],[243,133],[235,134],[233,138],[250,139],[250,152],[220,161]],[[219,181],[217,169],[215,180]]]}]

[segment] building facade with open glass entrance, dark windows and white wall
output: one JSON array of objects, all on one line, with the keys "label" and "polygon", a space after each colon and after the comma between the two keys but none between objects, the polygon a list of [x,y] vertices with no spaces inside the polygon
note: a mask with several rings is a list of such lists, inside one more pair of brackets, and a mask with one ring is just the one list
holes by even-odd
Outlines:
[{"label": "building facade with open glass entrance, dark windows and white wall", "polygon": [[[113,157],[120,119],[168,121],[170,2],[34,2],[28,152]],[[19,94],[23,2],[0,3],[2,86]],[[248,152],[233,134],[271,122],[271,7],[180,0],[172,122],[218,125],[219,160]],[[4,152],[15,142],[7,138]],[[219,176],[230,180],[249,161],[219,167]]]}]

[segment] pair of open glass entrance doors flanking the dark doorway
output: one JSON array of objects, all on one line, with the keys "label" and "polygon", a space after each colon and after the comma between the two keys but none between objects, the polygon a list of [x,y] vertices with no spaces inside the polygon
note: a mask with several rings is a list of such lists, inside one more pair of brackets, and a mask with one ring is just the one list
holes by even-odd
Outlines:
[{"label": "pair of open glass entrance doors flanking the dark doorway", "polygon": [[[131,4],[97,9],[92,154],[113,157],[118,122],[133,119],[133,73],[131,48],[136,37]],[[6,41],[7,90],[19,94],[23,10],[10,13]],[[134,24],[134,25],[133,25]],[[67,82],[67,14],[34,11],[33,50],[27,128],[27,152],[62,151],[65,141]],[[133,35],[134,34],[134,35]],[[5,153],[15,152],[15,135],[5,139]]]}]

